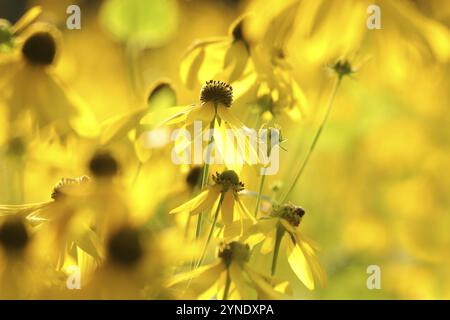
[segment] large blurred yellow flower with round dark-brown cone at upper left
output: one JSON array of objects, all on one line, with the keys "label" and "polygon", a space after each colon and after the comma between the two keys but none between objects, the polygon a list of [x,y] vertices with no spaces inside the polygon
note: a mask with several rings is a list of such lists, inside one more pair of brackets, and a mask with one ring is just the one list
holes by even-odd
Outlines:
[{"label": "large blurred yellow flower with round dark-brown cone at upper left", "polygon": [[[19,130],[28,117],[40,131],[55,131],[92,137],[97,122],[84,102],[69,90],[53,71],[60,46],[60,34],[47,24],[27,30],[20,50],[0,56],[0,103],[7,106],[12,130]],[[28,129],[30,130],[30,129]]]}]

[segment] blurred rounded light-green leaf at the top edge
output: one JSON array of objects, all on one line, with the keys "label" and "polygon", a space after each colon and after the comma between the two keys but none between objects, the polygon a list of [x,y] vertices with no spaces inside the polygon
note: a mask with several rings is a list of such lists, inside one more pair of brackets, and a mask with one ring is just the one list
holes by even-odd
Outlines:
[{"label": "blurred rounded light-green leaf at the top edge", "polygon": [[118,41],[160,47],[177,29],[177,11],[175,0],[107,0],[100,23]]}]

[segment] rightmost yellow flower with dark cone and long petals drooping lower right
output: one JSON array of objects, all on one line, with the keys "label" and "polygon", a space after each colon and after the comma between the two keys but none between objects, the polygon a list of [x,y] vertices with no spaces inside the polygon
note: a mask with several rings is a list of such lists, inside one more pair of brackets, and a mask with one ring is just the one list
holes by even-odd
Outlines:
[{"label": "rightmost yellow flower with dark cone and long petals drooping lower right", "polygon": [[253,244],[262,242],[261,253],[273,251],[272,274],[275,274],[280,248],[285,248],[292,271],[308,289],[313,290],[315,279],[323,284],[326,274],[316,258],[315,249],[298,228],[304,214],[302,208],[292,204],[274,206],[270,216],[250,226],[245,237]]}]

